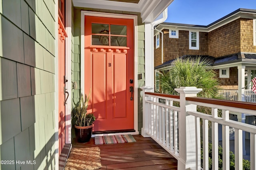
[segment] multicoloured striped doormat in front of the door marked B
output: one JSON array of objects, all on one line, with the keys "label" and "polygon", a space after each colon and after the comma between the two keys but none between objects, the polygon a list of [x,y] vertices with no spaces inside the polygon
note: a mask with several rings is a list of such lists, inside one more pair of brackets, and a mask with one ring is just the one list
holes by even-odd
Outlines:
[{"label": "multicoloured striped doormat in front of the door marked B", "polygon": [[131,134],[113,135],[113,136],[95,136],[95,144],[114,144],[136,142]]}]

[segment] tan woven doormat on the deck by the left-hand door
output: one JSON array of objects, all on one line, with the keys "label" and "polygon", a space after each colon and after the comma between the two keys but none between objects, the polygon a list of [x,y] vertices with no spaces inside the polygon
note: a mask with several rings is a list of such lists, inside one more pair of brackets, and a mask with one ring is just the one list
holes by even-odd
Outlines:
[{"label": "tan woven doormat on the deck by the left-hand door", "polygon": [[95,170],[101,168],[100,148],[72,148],[65,170]]}]

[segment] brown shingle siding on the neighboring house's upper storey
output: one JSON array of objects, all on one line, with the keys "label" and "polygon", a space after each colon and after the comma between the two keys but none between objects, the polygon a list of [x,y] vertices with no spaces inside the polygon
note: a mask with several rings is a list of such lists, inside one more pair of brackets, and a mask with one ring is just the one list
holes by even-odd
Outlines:
[{"label": "brown shingle siding on the neighboring house's upper storey", "polygon": [[[191,28],[193,29],[193,28]],[[256,53],[253,45],[253,19],[238,18],[210,32],[199,32],[199,50],[189,49],[189,31],[179,30],[179,38],[169,38],[169,30],[164,29],[163,62],[183,55],[210,55],[222,57],[234,53]],[[154,66],[161,65],[160,47],[155,49]]]}]

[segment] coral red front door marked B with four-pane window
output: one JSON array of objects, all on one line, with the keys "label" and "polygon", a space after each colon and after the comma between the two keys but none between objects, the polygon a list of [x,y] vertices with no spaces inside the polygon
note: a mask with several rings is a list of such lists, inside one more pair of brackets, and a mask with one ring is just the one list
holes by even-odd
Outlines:
[{"label": "coral red front door marked B with four-pane window", "polygon": [[85,16],[85,93],[94,131],[134,129],[133,20]]}]

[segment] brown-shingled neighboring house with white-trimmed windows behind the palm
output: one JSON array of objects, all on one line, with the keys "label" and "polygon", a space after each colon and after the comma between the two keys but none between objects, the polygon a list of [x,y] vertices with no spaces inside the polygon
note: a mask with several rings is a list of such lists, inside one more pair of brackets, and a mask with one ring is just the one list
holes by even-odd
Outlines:
[{"label": "brown-shingled neighboring house with white-trimmed windows behind the palm", "polygon": [[256,10],[238,9],[208,26],[162,23],[154,36],[156,75],[177,57],[201,56],[216,69],[220,89],[238,94],[234,100],[252,101],[248,96],[253,93],[245,89],[251,89],[256,76]]}]

